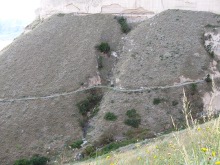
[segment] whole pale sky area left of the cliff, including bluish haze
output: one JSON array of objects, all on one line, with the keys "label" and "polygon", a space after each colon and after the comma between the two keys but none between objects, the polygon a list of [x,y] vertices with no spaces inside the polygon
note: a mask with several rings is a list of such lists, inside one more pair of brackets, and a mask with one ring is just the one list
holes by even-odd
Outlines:
[{"label": "whole pale sky area left of the cliff, including bluish haze", "polygon": [[36,18],[39,6],[40,0],[0,0],[0,50]]}]

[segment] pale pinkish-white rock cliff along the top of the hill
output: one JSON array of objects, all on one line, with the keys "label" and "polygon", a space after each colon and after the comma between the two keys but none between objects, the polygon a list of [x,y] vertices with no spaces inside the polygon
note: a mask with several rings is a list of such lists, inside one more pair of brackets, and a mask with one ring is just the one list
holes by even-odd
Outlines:
[{"label": "pale pinkish-white rock cliff along the top of the hill", "polygon": [[38,13],[135,13],[152,15],[167,9],[210,11],[219,13],[219,0],[42,0]]}]

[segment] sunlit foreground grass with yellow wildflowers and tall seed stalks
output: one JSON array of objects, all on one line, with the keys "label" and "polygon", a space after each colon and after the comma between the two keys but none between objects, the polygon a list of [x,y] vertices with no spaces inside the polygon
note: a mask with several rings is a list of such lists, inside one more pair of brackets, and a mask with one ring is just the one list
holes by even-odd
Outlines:
[{"label": "sunlit foreground grass with yellow wildflowers and tall seed stalks", "polygon": [[[80,165],[217,165],[220,164],[220,118],[214,119],[212,100],[217,90],[212,81],[213,93],[205,124],[192,118],[190,102],[183,91],[183,113],[187,128],[176,131],[154,142],[126,152],[112,152]],[[174,127],[175,127],[175,123]]]}]

